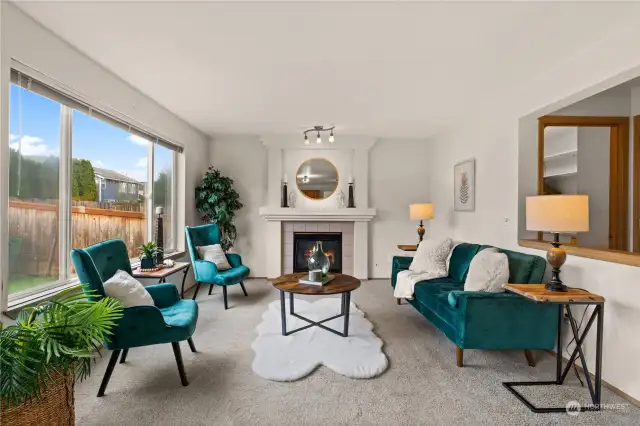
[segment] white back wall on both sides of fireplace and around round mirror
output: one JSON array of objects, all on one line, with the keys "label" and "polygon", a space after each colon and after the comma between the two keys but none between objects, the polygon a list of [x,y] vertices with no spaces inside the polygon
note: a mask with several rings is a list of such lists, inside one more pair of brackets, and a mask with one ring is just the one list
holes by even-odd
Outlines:
[{"label": "white back wall on both sides of fireplace and around round mirror", "polygon": [[[266,222],[258,215],[258,208],[269,204],[267,155],[257,136],[217,135],[211,148],[210,163],[235,180],[245,204],[237,216],[238,242],[234,251],[242,254],[243,262],[254,277],[267,276],[263,241]],[[341,182],[346,181],[352,151],[285,150],[282,168],[289,177],[289,189],[296,190],[293,176],[302,161],[325,155],[339,168]],[[369,151],[368,206],[378,211],[378,216],[369,224],[370,277],[388,277],[392,256],[403,253],[396,246],[415,243],[417,224],[409,221],[409,204],[429,201],[428,163],[428,144],[424,140],[380,139]],[[344,184],[340,187],[344,187],[347,194]],[[337,208],[335,197],[315,203],[302,196],[297,200],[296,208],[321,209],[317,206],[322,205],[327,209]],[[429,229],[428,223],[426,226]]]}]

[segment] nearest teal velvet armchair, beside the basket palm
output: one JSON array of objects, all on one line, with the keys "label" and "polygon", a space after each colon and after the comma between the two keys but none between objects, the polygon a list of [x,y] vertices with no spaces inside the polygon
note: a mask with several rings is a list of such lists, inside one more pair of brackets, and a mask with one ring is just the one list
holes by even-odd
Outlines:
[{"label": "nearest teal velvet armchair, beside the basket palm", "polygon": [[[76,249],[71,252],[71,260],[80,282],[87,283],[95,293],[89,297],[100,299],[106,296],[103,283],[118,269],[131,274],[131,263],[127,247],[120,240],[108,240]],[[187,386],[179,342],[187,341],[192,352],[196,351],[191,336],[196,329],[198,305],[192,300],[182,300],[173,284],[157,284],[145,287],[155,306],[133,306],[124,309],[124,316],[118,321],[110,340],[104,345],[111,350],[107,371],[100,384],[98,396],[103,396],[109,379],[122,353],[120,363],[126,362],[129,349],[171,343],[178,364],[180,381]]]}]

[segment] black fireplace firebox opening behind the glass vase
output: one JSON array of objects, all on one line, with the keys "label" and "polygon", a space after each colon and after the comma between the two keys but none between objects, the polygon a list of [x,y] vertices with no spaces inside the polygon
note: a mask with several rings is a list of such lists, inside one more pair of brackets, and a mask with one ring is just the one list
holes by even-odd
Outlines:
[{"label": "black fireplace firebox opening behind the glass vase", "polygon": [[342,233],[341,232],[294,232],[293,234],[293,272],[309,270],[307,258],[313,253],[317,241],[322,241],[322,251],[331,260],[330,272],[342,272]]}]

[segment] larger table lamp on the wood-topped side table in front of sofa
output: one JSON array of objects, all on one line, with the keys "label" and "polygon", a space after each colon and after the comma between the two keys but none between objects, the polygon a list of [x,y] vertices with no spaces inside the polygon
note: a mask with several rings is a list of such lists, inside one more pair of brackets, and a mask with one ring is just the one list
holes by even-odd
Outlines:
[{"label": "larger table lamp on the wood-topped side table in front of sofa", "polygon": [[588,195],[538,195],[526,200],[527,231],[553,234],[552,248],[547,252],[551,265],[551,281],[545,288],[567,291],[560,279],[560,268],[567,254],[560,248],[560,234],[589,231]]}]

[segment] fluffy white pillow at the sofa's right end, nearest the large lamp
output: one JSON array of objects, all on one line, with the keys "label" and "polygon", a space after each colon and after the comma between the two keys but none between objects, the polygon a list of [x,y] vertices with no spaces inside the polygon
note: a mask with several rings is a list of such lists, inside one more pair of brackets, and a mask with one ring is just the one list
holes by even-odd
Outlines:
[{"label": "fluffy white pillow at the sofa's right end, nearest the large lamp", "polygon": [[469,265],[465,291],[502,293],[502,284],[509,282],[509,260],[497,248],[486,248],[476,254]]}]

